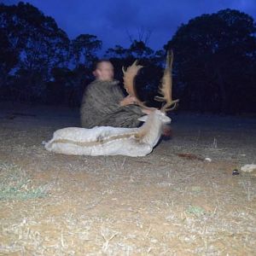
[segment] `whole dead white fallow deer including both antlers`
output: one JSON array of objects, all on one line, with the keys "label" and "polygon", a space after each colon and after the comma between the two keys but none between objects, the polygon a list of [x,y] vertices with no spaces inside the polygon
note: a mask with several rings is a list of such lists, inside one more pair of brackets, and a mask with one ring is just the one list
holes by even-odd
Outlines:
[{"label": "whole dead white fallow deer including both antlers", "polygon": [[[139,128],[118,128],[96,126],[91,129],[68,127],[54,132],[52,139],[45,144],[49,151],[60,154],[82,155],[128,155],[144,156],[149,154],[158,143],[162,127],[171,122],[166,112],[175,108],[178,100],[172,100],[172,52],[167,54],[166,68],[160,86],[160,96],[156,101],[166,102],[162,108],[140,118],[145,123]],[[125,90],[137,98],[134,78],[142,66],[135,61],[124,72]],[[145,107],[137,98],[137,104]],[[171,108],[170,108],[171,107]]]}]

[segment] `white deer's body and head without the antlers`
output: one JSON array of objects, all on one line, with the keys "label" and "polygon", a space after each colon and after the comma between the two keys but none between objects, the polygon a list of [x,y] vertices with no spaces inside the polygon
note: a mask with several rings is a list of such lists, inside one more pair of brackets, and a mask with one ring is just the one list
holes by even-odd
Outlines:
[{"label": "white deer's body and head without the antlers", "polygon": [[158,143],[162,126],[170,122],[165,113],[155,110],[139,128],[68,127],[55,131],[45,148],[60,154],[144,156]]}]

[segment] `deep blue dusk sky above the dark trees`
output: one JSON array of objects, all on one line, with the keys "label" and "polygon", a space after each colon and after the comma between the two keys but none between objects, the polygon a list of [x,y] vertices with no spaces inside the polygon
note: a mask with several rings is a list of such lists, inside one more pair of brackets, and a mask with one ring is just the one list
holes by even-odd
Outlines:
[{"label": "deep blue dusk sky above the dark trees", "polygon": [[[0,3],[15,4],[6,0]],[[162,49],[177,27],[203,14],[237,9],[256,21],[256,0],[29,0],[44,15],[52,16],[70,39],[79,34],[95,35],[102,48],[131,40],[145,40],[152,49]],[[149,37],[148,37],[149,36]]]}]

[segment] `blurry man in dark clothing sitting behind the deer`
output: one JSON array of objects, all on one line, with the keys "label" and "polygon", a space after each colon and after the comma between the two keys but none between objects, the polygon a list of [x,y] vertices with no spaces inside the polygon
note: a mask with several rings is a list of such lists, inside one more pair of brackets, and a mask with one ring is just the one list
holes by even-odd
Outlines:
[{"label": "blurry man in dark clothing sitting behind the deer", "polygon": [[80,108],[82,127],[133,128],[140,124],[137,120],[139,117],[150,113],[148,109],[133,105],[136,103],[135,97],[124,96],[119,82],[113,79],[110,61],[98,61],[93,74],[96,79],[86,87]]}]

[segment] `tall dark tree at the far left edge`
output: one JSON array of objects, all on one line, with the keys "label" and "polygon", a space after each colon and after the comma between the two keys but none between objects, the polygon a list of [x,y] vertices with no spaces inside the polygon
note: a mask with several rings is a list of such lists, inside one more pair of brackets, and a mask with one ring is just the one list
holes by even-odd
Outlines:
[{"label": "tall dark tree at the far left edge", "polygon": [[[12,52],[19,55],[15,84],[23,100],[41,97],[50,70],[67,63],[69,39],[51,17],[29,3],[0,5],[0,20]],[[20,88],[19,88],[20,87]]]}]

